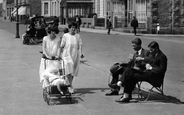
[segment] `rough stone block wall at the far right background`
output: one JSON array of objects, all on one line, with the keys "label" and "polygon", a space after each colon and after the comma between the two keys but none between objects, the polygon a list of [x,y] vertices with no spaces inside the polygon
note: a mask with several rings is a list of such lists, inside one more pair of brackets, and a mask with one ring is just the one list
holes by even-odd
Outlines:
[{"label": "rough stone block wall at the far right background", "polygon": [[[157,4],[157,23],[160,24],[160,34],[184,33],[184,1],[183,0],[153,0]],[[152,9],[153,10],[153,9]],[[153,16],[152,18],[155,18]],[[155,22],[152,22],[153,28]]]}]

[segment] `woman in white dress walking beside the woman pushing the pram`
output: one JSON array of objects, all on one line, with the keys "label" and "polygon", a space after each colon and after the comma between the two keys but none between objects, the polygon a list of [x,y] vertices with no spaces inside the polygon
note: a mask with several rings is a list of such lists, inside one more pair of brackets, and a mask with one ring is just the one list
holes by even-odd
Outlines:
[{"label": "woman in white dress walking beside the woman pushing the pram", "polygon": [[[61,40],[62,59],[65,63],[65,72],[69,74],[69,83],[71,85],[70,92],[74,93],[72,86],[73,78],[78,75],[79,59],[82,55],[82,40],[78,33],[76,33],[76,23],[68,25],[69,32],[65,33]],[[60,55],[59,55],[60,56]]]}]

